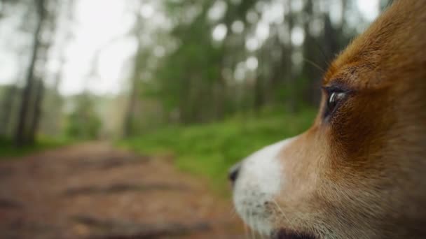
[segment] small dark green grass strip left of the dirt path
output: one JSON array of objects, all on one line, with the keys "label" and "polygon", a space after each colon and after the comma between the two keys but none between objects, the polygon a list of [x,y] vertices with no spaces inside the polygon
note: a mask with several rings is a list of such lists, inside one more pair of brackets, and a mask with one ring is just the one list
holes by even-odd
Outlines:
[{"label": "small dark green grass strip left of the dirt path", "polygon": [[70,140],[64,138],[53,139],[39,137],[34,145],[16,147],[12,140],[0,138],[0,160],[13,159],[15,157],[32,154],[34,152],[41,152],[56,147],[62,147],[64,145],[69,145],[70,143]]}]

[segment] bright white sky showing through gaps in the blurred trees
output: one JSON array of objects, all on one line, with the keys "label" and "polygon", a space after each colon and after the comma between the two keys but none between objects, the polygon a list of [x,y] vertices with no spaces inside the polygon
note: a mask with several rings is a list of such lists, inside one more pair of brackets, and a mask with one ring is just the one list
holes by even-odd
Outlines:
[{"label": "bright white sky showing through gaps in the blurred trees", "polygon": [[[299,1],[295,1],[292,8],[300,8]],[[116,94],[123,90],[123,80],[128,71],[126,60],[135,52],[135,39],[128,34],[132,25],[135,23],[135,17],[131,9],[126,8],[127,1],[122,0],[77,0],[76,20],[72,26],[74,38],[71,39],[65,51],[64,77],[60,85],[60,92],[65,95],[78,94],[84,89],[89,89],[95,94]],[[99,9],[102,6],[102,9]],[[361,10],[362,16],[366,20],[373,20],[378,15],[378,0],[357,0],[357,7]],[[262,8],[262,6],[259,6]],[[210,20],[218,20],[224,15],[226,3],[217,1],[212,9],[209,10]],[[258,49],[262,42],[268,38],[268,24],[282,21],[283,8],[268,8],[270,13],[262,15],[259,19],[255,36],[246,40],[246,48],[249,51]],[[142,6],[141,15],[147,21],[155,24],[166,24],[164,15],[156,12],[155,6],[148,3]],[[331,10],[331,19],[339,20],[338,10]],[[256,18],[256,15],[247,15],[247,18]],[[350,17],[348,17],[350,20]],[[247,19],[251,21],[250,19]],[[256,20],[256,19],[252,19]],[[7,84],[16,80],[18,70],[22,68],[22,61],[11,48],[11,34],[16,26],[16,19],[4,20],[8,24],[1,24],[0,34],[4,37],[0,40],[0,84]],[[227,29],[224,24],[219,24],[212,31],[212,38],[221,41],[229,34],[229,31],[240,33],[245,26],[240,21],[233,22],[231,29]],[[296,27],[292,32],[291,43],[301,45],[303,43],[304,33],[301,27]],[[16,37],[16,36],[15,36]],[[147,32],[147,38],[149,31]],[[97,62],[97,75],[88,77],[92,68],[93,58],[99,52],[99,61]],[[165,49],[154,46],[154,54],[157,57],[165,55]],[[247,67],[256,68],[257,59],[247,59]],[[57,67],[57,59],[50,60],[49,69]],[[236,71],[242,71],[236,69]],[[234,73],[238,78],[238,72]]]}]

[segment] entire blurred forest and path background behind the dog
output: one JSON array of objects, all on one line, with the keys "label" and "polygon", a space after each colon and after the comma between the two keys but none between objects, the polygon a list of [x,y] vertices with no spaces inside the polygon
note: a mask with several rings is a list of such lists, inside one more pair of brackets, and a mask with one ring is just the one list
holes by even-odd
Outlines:
[{"label": "entire blurred forest and path background behind the dog", "polygon": [[308,129],[389,3],[0,0],[0,229],[244,238],[227,168]]}]

